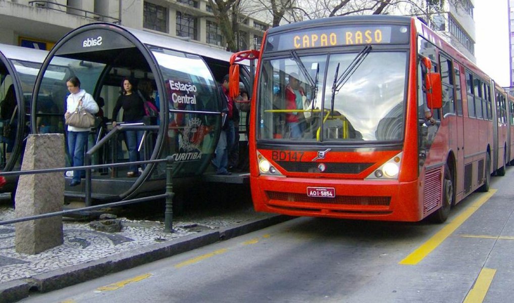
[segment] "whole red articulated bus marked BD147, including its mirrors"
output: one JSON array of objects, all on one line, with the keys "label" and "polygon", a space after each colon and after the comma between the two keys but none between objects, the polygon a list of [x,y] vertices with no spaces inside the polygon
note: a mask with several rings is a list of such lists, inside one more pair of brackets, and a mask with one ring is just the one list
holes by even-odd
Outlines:
[{"label": "whole red articulated bus marked BD147, including its mirrors", "polygon": [[491,174],[505,174],[505,91],[417,19],[271,28],[261,50],[231,62],[245,59],[258,60],[249,131],[255,210],[444,222],[455,203],[489,190]]}]

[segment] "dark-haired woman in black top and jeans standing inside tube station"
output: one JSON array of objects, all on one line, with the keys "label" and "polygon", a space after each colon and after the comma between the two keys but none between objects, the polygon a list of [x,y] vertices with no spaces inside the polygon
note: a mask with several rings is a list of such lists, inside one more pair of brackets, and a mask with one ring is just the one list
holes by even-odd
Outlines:
[{"label": "dark-haired woman in black top and jeans standing inside tube station", "polygon": [[[121,95],[113,109],[113,127],[116,127],[118,112],[123,108],[123,121],[125,123],[139,123],[143,121],[144,104],[138,96],[135,79],[124,78],[121,82]],[[143,137],[143,131],[125,131],[125,140],[128,148],[128,161],[138,161],[138,147]],[[128,167],[127,177],[138,176],[137,165]]]}]

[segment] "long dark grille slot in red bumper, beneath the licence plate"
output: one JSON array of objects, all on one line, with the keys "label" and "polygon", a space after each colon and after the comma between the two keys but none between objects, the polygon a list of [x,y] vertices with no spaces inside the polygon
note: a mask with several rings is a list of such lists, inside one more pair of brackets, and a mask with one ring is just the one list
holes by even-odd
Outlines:
[{"label": "long dark grille slot in red bumper, beneath the licence plate", "polygon": [[306,194],[292,192],[266,191],[269,200],[289,201],[299,203],[341,204],[341,205],[374,205],[389,206],[391,197],[354,197],[336,195],[335,198],[308,197]]}]

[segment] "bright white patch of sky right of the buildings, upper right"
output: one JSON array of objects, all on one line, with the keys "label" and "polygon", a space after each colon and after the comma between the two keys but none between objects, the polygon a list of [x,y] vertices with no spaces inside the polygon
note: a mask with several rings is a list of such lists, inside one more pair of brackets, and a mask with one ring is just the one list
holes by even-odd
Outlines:
[{"label": "bright white patch of sky right of the buildings, upper right", "polygon": [[508,0],[474,0],[476,64],[501,86],[510,86]]}]

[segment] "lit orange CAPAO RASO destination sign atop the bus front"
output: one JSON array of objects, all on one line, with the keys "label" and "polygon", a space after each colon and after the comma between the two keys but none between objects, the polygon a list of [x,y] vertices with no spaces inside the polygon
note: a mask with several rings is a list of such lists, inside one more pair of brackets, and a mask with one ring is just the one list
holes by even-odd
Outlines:
[{"label": "lit orange CAPAO RASO destination sign atop the bus front", "polygon": [[271,35],[267,51],[359,44],[407,43],[407,26],[344,25]]}]

